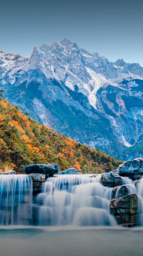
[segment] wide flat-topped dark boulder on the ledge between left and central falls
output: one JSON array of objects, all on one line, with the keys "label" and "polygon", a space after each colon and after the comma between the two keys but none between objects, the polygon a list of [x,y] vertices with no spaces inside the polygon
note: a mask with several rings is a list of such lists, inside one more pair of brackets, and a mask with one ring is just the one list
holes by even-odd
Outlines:
[{"label": "wide flat-topped dark boulder on the ledge between left and central falls", "polygon": [[31,164],[24,166],[24,173],[41,173],[46,176],[52,176],[58,173],[58,164]]}]

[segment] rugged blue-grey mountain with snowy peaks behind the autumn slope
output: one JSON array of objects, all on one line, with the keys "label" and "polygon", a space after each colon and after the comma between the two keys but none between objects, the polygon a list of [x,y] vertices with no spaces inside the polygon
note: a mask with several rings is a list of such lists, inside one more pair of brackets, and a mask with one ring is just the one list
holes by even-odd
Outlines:
[{"label": "rugged blue-grey mountain with snowy peaks behind the autumn slope", "polygon": [[31,56],[0,49],[0,87],[10,103],[74,140],[117,155],[142,135],[143,68],[110,62],[64,38]]}]

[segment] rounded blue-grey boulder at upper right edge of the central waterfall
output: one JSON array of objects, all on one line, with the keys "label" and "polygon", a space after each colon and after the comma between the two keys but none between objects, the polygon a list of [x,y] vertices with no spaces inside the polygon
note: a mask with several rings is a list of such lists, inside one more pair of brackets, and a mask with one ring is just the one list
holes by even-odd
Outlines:
[{"label": "rounded blue-grey boulder at upper right edge of the central waterfall", "polygon": [[121,186],[123,185],[122,177],[114,173],[102,173],[101,183],[104,186]]}]

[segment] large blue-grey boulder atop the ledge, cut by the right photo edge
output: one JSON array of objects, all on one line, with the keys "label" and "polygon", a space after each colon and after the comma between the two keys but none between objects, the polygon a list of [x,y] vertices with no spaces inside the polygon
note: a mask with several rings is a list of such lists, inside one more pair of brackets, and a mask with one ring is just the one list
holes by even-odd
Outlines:
[{"label": "large blue-grey boulder atop the ledge, cut by the right photo edge", "polygon": [[116,172],[132,180],[138,180],[143,175],[143,157],[123,162],[123,164],[119,165]]}]

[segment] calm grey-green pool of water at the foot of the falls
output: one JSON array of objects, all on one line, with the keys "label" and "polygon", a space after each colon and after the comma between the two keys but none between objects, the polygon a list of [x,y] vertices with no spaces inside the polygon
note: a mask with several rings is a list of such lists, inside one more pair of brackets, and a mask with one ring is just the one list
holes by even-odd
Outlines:
[{"label": "calm grey-green pool of water at the foot of the falls", "polygon": [[142,228],[2,228],[1,256],[143,255]]}]

